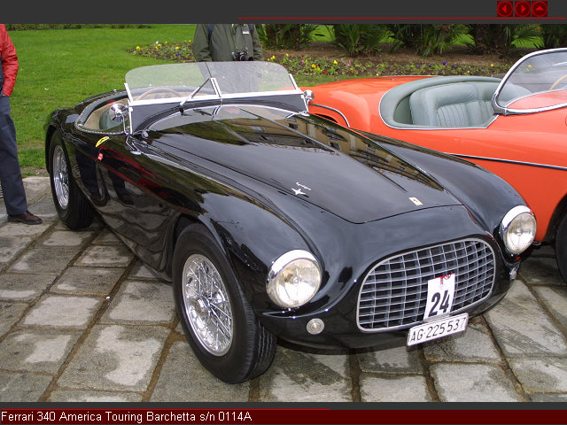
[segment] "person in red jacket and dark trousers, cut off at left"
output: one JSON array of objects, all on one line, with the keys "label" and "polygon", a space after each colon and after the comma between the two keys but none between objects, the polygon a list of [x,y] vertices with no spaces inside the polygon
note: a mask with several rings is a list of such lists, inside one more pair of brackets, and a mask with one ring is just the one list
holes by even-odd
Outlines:
[{"label": "person in red jacket and dark trousers, cut off at left", "polygon": [[16,48],[4,24],[0,24],[0,185],[8,221],[40,224],[42,219],[27,211],[26,191],[21,180],[16,128],[10,115],[10,97],[18,74]]}]

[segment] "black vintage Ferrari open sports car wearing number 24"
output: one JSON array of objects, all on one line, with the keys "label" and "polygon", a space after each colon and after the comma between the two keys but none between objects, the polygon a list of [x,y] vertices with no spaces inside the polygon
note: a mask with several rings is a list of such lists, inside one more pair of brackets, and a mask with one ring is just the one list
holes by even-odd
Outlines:
[{"label": "black vintage Ferrari open sports car wearing number 24", "polygon": [[420,344],[509,289],[535,220],[508,183],[309,115],[268,62],[144,66],[52,112],[46,163],[69,228],[98,213],[167,280],[191,347],[228,383],[276,336]]}]

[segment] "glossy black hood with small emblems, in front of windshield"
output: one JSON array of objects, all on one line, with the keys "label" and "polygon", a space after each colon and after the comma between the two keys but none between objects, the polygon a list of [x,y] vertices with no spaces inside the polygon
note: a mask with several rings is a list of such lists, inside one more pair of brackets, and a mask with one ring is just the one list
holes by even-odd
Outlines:
[{"label": "glossy black hood with small emblems, in front of windshield", "polygon": [[150,138],[353,223],[461,205],[415,166],[325,120],[248,105],[213,112],[190,111],[162,120]]}]

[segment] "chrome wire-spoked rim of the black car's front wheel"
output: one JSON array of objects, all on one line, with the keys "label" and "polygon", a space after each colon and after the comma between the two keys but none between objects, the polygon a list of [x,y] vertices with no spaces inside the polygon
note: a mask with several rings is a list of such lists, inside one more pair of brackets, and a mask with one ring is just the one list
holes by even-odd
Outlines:
[{"label": "chrome wire-spoked rim of the black car's front wheel", "polygon": [[200,254],[191,255],[183,266],[185,316],[207,352],[221,356],[232,343],[232,310],[221,274]]}]

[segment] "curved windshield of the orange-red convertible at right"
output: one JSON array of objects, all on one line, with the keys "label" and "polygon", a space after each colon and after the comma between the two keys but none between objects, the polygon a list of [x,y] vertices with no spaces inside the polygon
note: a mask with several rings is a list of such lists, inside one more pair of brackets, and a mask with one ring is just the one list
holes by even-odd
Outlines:
[{"label": "curved windshield of the orange-red convertible at right", "polygon": [[521,58],[494,98],[506,112],[540,112],[567,105],[567,49],[541,50]]}]

